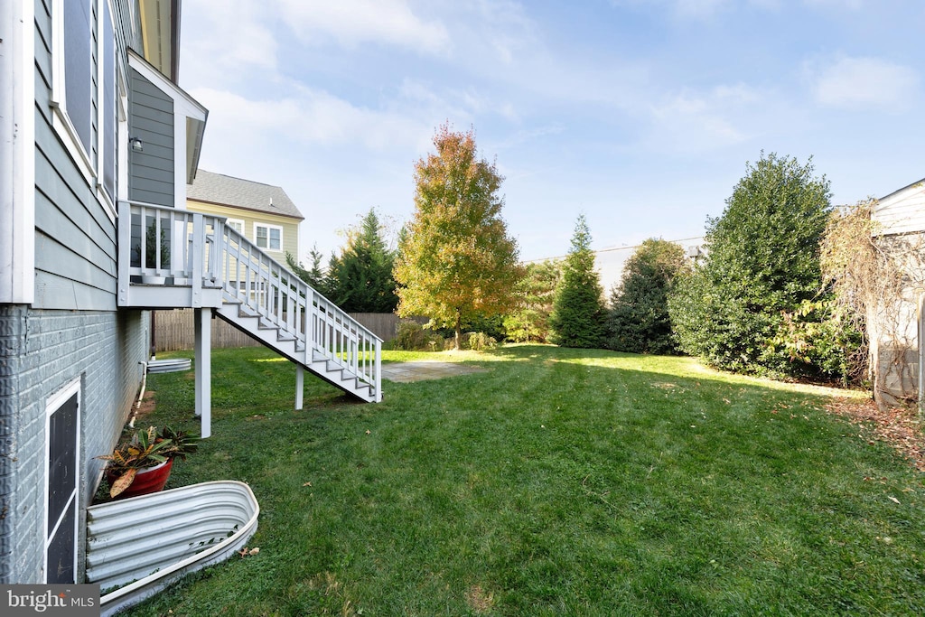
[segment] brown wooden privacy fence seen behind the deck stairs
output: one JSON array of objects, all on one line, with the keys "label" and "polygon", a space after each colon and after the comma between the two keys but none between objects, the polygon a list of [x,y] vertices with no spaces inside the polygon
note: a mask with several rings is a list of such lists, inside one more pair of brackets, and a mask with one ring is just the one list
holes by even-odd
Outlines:
[{"label": "brown wooden privacy fence seen behind the deck stairs", "polygon": [[[364,327],[388,341],[395,338],[400,318],[394,313],[350,313]],[[255,347],[262,343],[252,339],[221,319],[212,320],[212,346]],[[191,350],[195,341],[193,310],[154,311],[154,351],[176,352]]]}]

